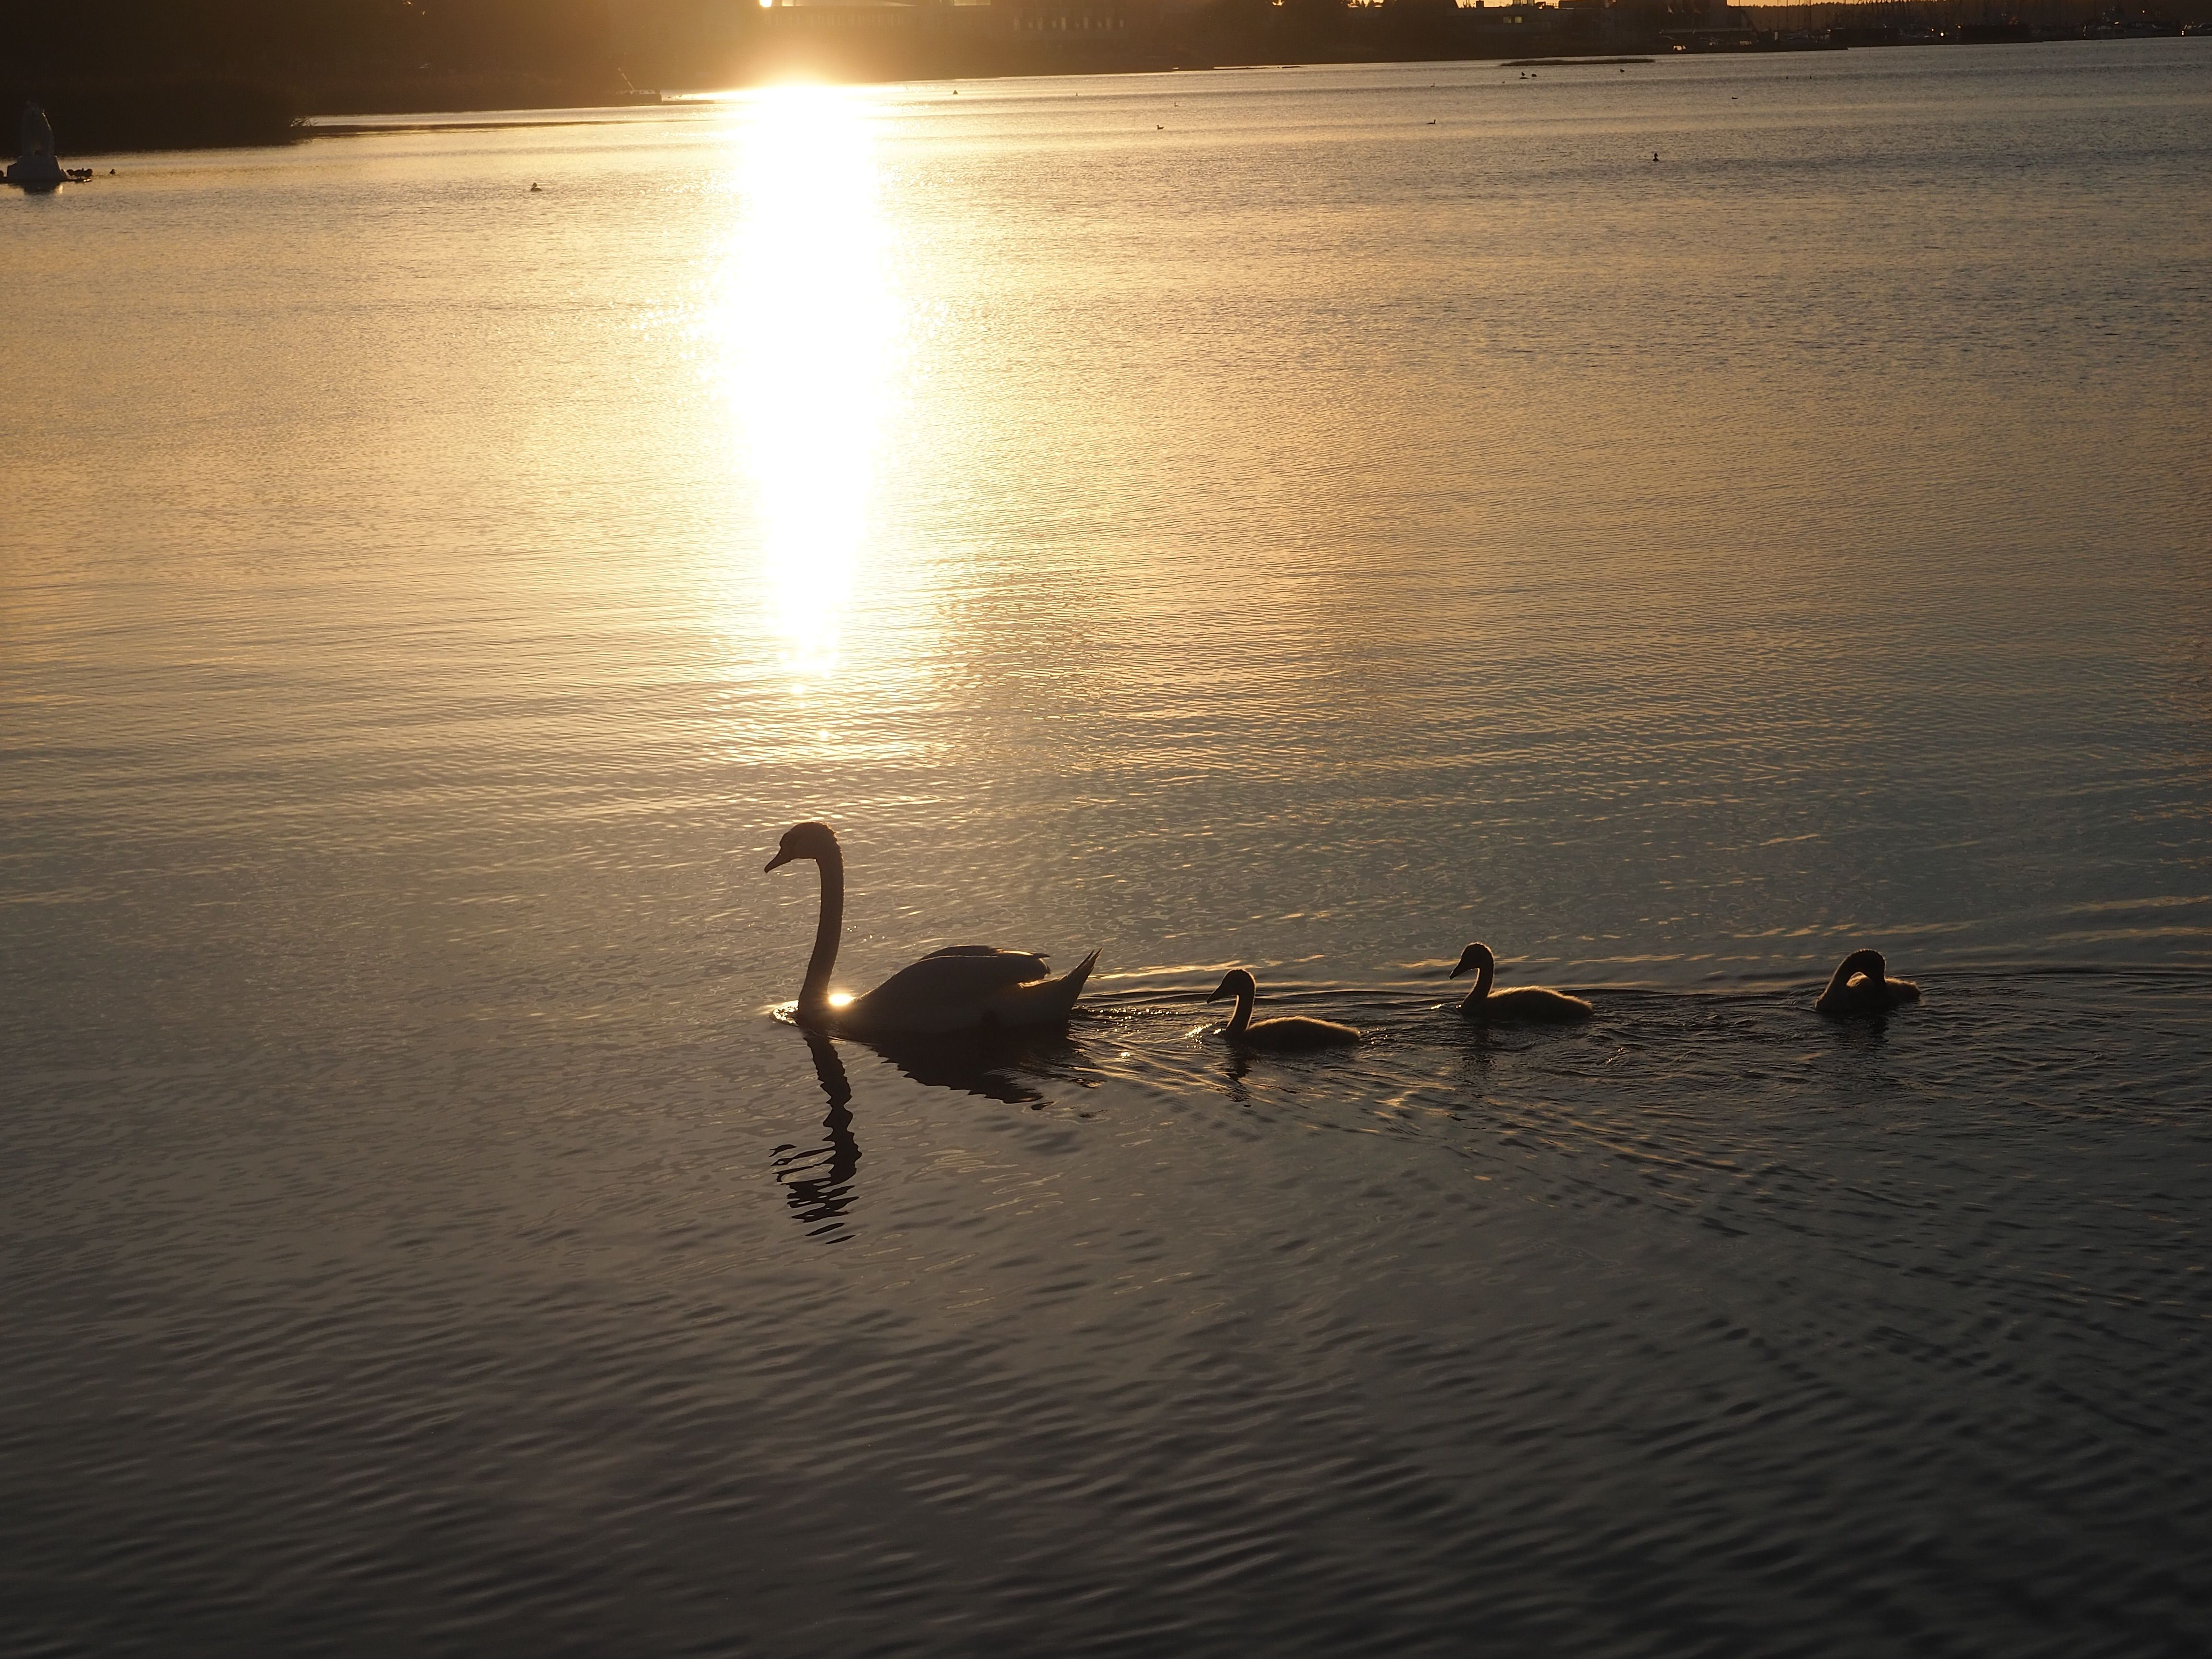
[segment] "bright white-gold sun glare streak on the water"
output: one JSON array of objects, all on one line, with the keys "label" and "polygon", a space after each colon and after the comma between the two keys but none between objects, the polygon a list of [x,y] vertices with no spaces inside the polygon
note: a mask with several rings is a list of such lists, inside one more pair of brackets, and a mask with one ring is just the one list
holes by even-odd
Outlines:
[{"label": "bright white-gold sun glare streak on the water", "polygon": [[752,100],[732,137],[739,210],[712,327],[759,522],[757,591],[803,697],[838,670],[900,310],[865,97],[776,88]]}]

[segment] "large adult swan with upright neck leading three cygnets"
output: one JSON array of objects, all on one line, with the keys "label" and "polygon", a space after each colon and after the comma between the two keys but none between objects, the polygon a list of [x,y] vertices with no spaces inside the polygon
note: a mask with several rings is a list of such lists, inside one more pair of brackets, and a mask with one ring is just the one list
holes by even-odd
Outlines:
[{"label": "large adult swan with upright neck leading three cygnets", "polygon": [[812,858],[823,876],[823,909],[814,925],[814,956],[799,987],[799,1024],[812,1029],[942,1035],[947,1031],[993,1031],[1002,1026],[1066,1024],[1084,980],[1097,967],[1091,951],[1073,973],[1051,978],[1042,956],[1000,951],[989,945],[949,945],[902,967],[874,991],[856,998],[830,995],[836,938],[845,925],[845,854],[827,823],[794,823],[783,832],[768,869]]}]

